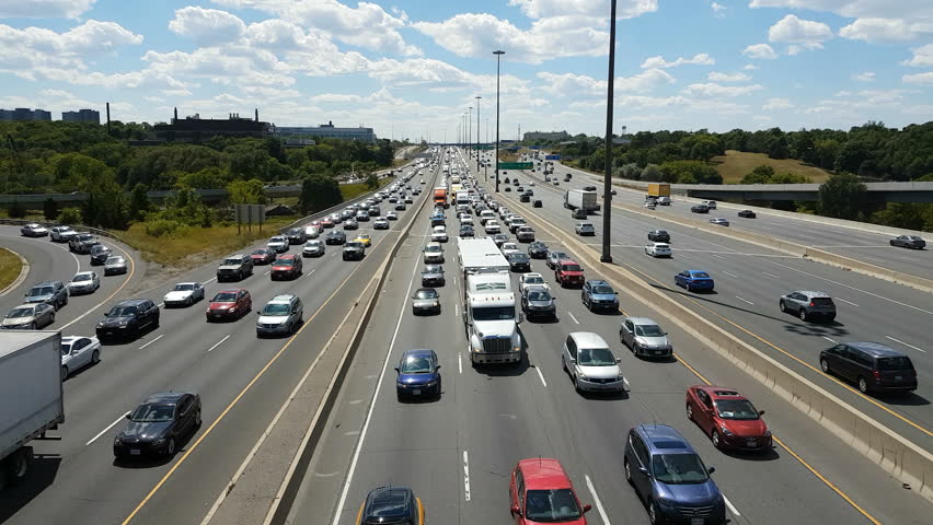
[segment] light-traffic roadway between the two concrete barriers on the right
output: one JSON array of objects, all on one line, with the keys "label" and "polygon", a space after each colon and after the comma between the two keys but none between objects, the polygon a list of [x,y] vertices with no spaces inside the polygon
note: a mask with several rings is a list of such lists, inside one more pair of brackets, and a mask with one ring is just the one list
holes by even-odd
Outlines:
[{"label": "light-traffic roadway between the two concrete barriers on the right", "polygon": [[[528,203],[519,208],[515,191],[500,195],[506,201],[510,199],[514,202],[510,208],[520,209],[519,213],[546,214],[549,221],[572,232],[579,221],[563,208],[563,194],[589,183],[575,177],[571,183],[562,180],[560,186],[552,186],[537,175],[537,172],[525,173],[521,178],[537,180],[533,198],[543,201],[542,209],[532,209]],[[590,215],[588,221],[596,226],[596,236],[589,243],[599,249],[602,217]],[[644,254],[647,232],[656,229],[670,233],[672,258],[655,259]],[[933,320],[930,294],[732,240],[730,229],[723,230],[723,235],[716,235],[669,223],[663,214],[646,217],[613,208],[611,253],[617,264],[663,287],[666,293],[710,322],[779,359],[915,444],[933,450],[930,405],[933,362],[925,330]],[[715,279],[716,292],[692,293],[675,287],[675,273],[684,269],[709,271]],[[830,293],[838,308],[836,320],[807,323],[782,314],[778,301],[794,290]],[[844,341],[876,341],[906,352],[918,371],[918,389],[865,396],[854,385],[827,376],[819,371],[819,351]]]}]

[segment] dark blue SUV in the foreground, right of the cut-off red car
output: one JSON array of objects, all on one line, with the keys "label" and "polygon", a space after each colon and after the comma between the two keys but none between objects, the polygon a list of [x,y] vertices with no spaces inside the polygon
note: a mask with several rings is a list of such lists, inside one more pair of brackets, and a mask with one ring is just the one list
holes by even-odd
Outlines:
[{"label": "dark blue SUV in the foreground, right of the cut-off red car", "polygon": [[726,523],[726,503],[696,451],[666,424],[640,424],[625,442],[625,479],[650,523]]}]

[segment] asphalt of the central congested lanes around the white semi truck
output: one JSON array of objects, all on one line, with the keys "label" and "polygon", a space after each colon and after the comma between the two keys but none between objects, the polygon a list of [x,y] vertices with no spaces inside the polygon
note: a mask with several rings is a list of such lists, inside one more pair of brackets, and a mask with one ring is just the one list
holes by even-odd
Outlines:
[{"label": "asphalt of the central congested lanes around the white semi truck", "polygon": [[[545,203],[544,211],[551,209]],[[563,214],[548,217],[556,222]],[[519,365],[473,369],[458,310],[454,241],[446,248],[448,282],[439,287],[442,313],[411,312],[408,298],[421,285],[427,218],[422,212],[422,231],[413,231],[396,257],[401,264],[390,270],[391,284],[380,295],[288,523],[353,524],[366,493],[385,485],[411,486],[424,501],[429,523],[510,523],[509,472],[519,459],[539,455],[563,463],[581,502],[594,505],[589,523],[647,523],[622,474],[621,452],[632,425],[653,421],[676,427],[716,467],[713,476],[728,499],[732,523],[921,523],[929,512],[924,500],[840,447],[837,438],[677,326],[656,319],[670,331],[677,360],[634,358],[618,342],[621,313],[586,311],[579,291],[557,287],[541,260],[533,261],[532,270],[543,273],[555,292],[558,322],[521,325],[527,359]],[[448,219],[448,228],[456,225]],[[636,314],[644,306],[623,291],[621,308]],[[561,370],[560,345],[578,330],[596,331],[609,341],[622,359],[627,395],[574,392]],[[414,348],[439,354],[439,400],[396,400],[392,368],[402,352]],[[704,380],[737,387],[767,409],[765,419],[782,444],[767,455],[714,450],[683,413],[686,388]]]}]

